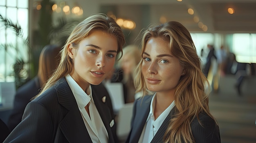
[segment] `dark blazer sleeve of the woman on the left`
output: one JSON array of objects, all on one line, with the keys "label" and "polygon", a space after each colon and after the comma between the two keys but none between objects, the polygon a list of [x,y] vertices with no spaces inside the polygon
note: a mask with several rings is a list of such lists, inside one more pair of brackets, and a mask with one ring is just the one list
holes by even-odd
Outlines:
[{"label": "dark blazer sleeve of the woman on the left", "polygon": [[47,139],[54,139],[52,128],[52,119],[46,108],[40,103],[30,102],[22,121],[4,143],[51,143],[53,141]]}]

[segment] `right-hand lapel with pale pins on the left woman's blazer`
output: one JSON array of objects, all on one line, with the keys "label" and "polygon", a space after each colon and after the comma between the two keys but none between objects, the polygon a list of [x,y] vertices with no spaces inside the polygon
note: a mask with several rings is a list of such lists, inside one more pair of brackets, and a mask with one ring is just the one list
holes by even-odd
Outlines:
[{"label": "right-hand lapel with pale pins on the left woman's blazer", "polygon": [[[100,86],[98,86],[98,87],[100,87]],[[103,124],[105,125],[105,128],[108,132],[109,141],[110,141],[110,143],[114,143],[115,139],[112,134],[111,127],[112,127],[112,125],[115,124],[115,121],[110,116],[111,110],[110,110],[109,106],[106,105],[107,100],[110,100],[110,99],[107,99],[107,98],[109,98],[109,96],[106,95],[108,92],[104,91],[103,89],[96,89],[96,88],[97,88],[97,86],[92,86],[93,100],[94,100],[95,106],[101,116]],[[110,127],[110,124],[111,124],[111,127]]]}]

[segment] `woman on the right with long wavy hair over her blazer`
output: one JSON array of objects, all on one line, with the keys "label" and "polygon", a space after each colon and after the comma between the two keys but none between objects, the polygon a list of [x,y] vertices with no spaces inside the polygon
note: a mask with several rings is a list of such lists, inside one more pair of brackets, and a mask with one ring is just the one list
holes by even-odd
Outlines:
[{"label": "woman on the right with long wavy hair over her blazer", "polygon": [[135,69],[137,92],[127,143],[220,143],[209,83],[189,31],[171,21],[148,28]]}]

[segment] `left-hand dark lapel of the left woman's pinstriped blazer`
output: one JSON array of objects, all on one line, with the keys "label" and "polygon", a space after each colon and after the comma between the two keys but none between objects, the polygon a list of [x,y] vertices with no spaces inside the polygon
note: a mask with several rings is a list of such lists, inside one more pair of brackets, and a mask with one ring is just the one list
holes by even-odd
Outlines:
[{"label": "left-hand dark lapel of the left woman's pinstriped blazer", "polygon": [[76,103],[76,99],[65,80],[65,77],[60,79],[56,91],[58,94],[59,103],[68,111],[65,117],[60,122],[59,127],[64,136],[71,143],[81,143],[86,141],[92,143],[90,135],[84,125],[83,118]]}]

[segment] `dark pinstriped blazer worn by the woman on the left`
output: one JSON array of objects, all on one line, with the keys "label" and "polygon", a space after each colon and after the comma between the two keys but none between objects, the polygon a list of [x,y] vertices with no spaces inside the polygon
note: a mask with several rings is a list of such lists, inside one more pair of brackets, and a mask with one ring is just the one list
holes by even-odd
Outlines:
[{"label": "dark pinstriped blazer worn by the woman on the left", "polygon": [[[91,86],[109,142],[115,143],[116,125],[110,127],[114,114],[108,92],[102,84]],[[102,100],[104,96],[105,102]],[[22,121],[4,143],[92,143],[65,77],[27,104]]]}]

